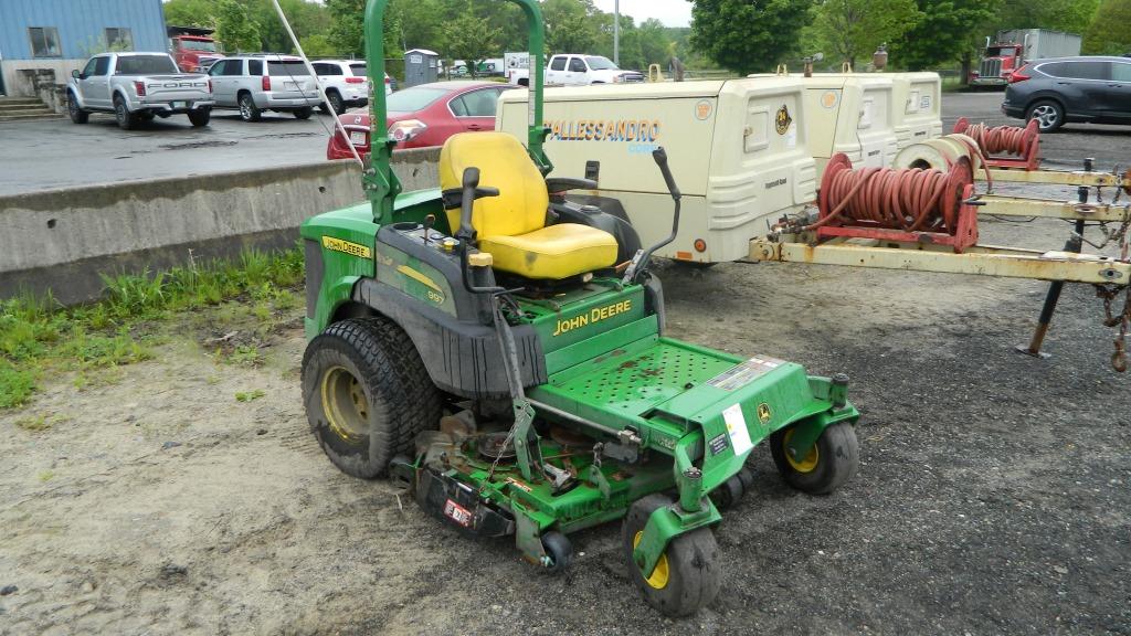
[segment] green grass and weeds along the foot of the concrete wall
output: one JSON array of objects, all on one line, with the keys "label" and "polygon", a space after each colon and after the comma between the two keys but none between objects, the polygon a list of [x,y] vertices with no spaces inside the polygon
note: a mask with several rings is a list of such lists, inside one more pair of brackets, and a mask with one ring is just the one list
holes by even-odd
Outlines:
[{"label": "green grass and weeds along the foot of the concrete wall", "polygon": [[[0,301],[0,409],[26,404],[46,371],[78,371],[80,387],[120,377],[118,367],[153,356],[152,324],[174,312],[242,298],[252,316],[275,328],[297,307],[293,290],[302,280],[301,249],[248,250],[234,260],[103,275],[103,299],[79,307],[63,308],[50,293]],[[257,367],[262,358],[256,347],[239,347],[232,361]]]}]

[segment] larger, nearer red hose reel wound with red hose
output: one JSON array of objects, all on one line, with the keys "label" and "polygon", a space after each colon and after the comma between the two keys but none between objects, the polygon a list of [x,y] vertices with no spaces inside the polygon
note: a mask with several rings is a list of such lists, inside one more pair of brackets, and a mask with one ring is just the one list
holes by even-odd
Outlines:
[{"label": "larger, nearer red hose reel wound with red hose", "polygon": [[806,230],[818,239],[847,237],[950,246],[977,244],[977,210],[970,162],[949,171],[912,167],[853,170],[844,153],[829,160],[818,197],[820,218]]}]

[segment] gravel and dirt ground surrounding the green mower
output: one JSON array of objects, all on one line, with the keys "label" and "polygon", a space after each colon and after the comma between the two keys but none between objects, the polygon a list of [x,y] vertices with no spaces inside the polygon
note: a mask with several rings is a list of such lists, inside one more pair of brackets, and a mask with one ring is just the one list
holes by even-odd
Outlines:
[{"label": "gravel and dirt ground surrounding the green mower", "polygon": [[[1050,249],[1067,231],[982,227]],[[16,587],[0,634],[1131,634],[1129,378],[1089,287],[1065,290],[1041,361],[1012,350],[1038,282],[659,273],[670,335],[846,371],[863,412],[860,474],[831,496],[792,491],[756,449],[753,492],[716,530],[723,591],[698,616],[642,603],[618,524],[576,535],[549,577],[340,474],[302,414],[301,311],[244,369],[202,344],[252,327],[217,310],[166,327],[116,381],[54,378],[0,414],[0,588]],[[14,426],[36,415],[53,426]]]}]

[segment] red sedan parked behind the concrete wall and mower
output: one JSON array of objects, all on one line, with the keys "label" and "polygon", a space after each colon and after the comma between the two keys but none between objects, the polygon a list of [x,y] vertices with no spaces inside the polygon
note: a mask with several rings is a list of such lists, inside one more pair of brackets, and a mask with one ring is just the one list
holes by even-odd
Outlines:
[{"label": "red sedan parked behind the concrete wall and mower", "polygon": [[[448,137],[469,130],[494,130],[499,94],[513,86],[495,81],[435,81],[397,91],[388,96],[387,124],[415,121],[415,136],[398,148],[442,146]],[[356,109],[339,115],[349,141],[362,156],[369,154],[369,111]],[[326,158],[353,158],[340,132],[330,137]]]}]

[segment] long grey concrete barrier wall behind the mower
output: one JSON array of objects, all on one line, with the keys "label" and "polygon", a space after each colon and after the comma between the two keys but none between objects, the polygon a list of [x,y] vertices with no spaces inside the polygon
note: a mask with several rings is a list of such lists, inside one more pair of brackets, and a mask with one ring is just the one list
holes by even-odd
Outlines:
[{"label": "long grey concrete barrier wall behind the mower", "polygon": [[[394,155],[405,190],[439,183],[439,148]],[[0,298],[96,298],[100,274],[287,247],[303,220],[364,199],[361,169],[319,162],[0,197]]]}]

